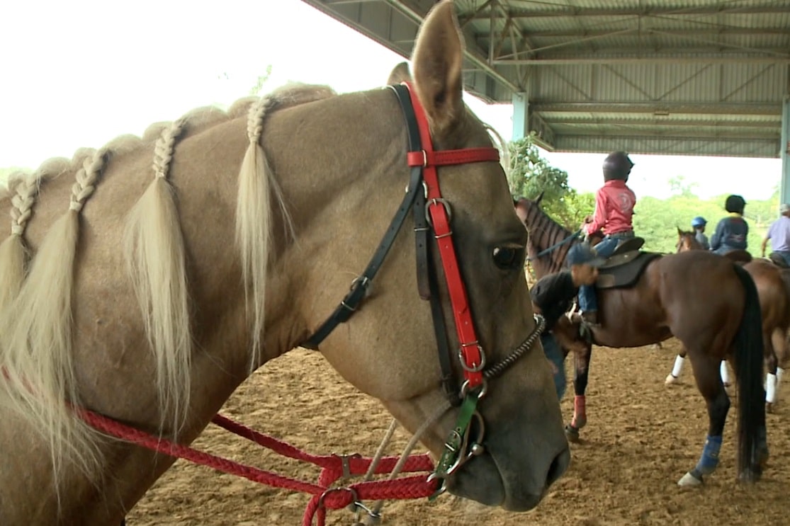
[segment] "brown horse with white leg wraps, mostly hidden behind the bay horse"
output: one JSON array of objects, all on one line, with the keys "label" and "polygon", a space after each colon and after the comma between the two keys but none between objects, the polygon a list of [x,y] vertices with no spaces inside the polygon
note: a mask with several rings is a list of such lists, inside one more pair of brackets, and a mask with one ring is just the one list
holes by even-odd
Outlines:
[{"label": "brown horse with white leg wraps, mostly hidden behind the bay horse", "polygon": [[[694,232],[678,228],[678,252],[687,250],[703,250],[702,245],[694,237]],[[732,261],[743,262],[743,268],[751,274],[760,297],[762,314],[762,338],[766,347],[764,357],[767,368],[766,404],[769,411],[776,403],[779,383],[782,376],[780,365],[790,360],[788,346],[788,329],[790,329],[790,269],[780,269],[767,259],[751,259],[746,250],[733,250],[725,254]],[[677,380],[682,368],[685,352],[675,360],[675,368],[667,377],[666,383],[671,385]]]}]

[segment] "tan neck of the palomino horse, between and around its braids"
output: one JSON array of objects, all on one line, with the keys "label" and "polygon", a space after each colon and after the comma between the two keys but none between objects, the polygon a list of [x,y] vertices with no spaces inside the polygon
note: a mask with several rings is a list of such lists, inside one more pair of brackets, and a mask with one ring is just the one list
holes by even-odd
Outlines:
[{"label": "tan neck of the palomino horse, between and around its braids", "polygon": [[[246,117],[179,141],[168,179],[177,198],[178,227],[186,247],[192,326],[189,411],[179,441],[188,443],[196,438],[251,370],[295,347],[309,336],[308,328],[317,326],[332,312],[344,291],[348,291],[351,278],[348,257],[329,254],[328,246],[348,252],[349,247],[364,243],[372,250],[378,242],[373,238],[386,230],[389,217],[385,216],[389,214],[368,204],[380,198],[377,190],[382,186],[386,186],[390,196],[402,194],[403,179],[386,178],[382,182],[364,177],[373,164],[376,173],[387,173],[396,160],[404,160],[401,122],[397,118],[382,119],[381,112],[365,103],[368,99],[383,103],[386,96],[390,95],[374,92],[348,96],[348,100],[322,108],[315,107],[320,102],[305,104],[276,111],[266,121],[261,143],[269,152],[269,165],[276,167],[276,182],[285,208],[291,213],[293,233],[286,233],[284,215],[275,212],[266,280],[265,330],[261,356],[254,363],[250,363],[246,293],[232,241],[236,180],[249,143]],[[392,107],[393,112],[397,111],[394,104]],[[314,118],[316,114],[322,116],[320,123]],[[304,126],[304,122],[315,126]],[[344,126],[348,122],[359,126]],[[152,389],[156,360],[152,359],[119,249],[126,213],[152,179],[150,156],[149,148],[135,148],[111,160],[83,212],[85,223],[95,227],[83,232],[75,263],[72,352],[74,370],[81,381],[77,389],[81,404],[157,434],[159,397]],[[404,166],[402,171],[405,174],[408,169]],[[73,180],[73,176],[64,174],[43,186],[26,232],[33,250],[51,224],[62,216],[58,204],[70,193]],[[343,213],[352,205],[371,210],[371,217]],[[0,212],[8,210],[3,208]],[[359,234],[360,220],[373,225],[370,234]],[[374,231],[374,227],[378,230]],[[348,245],[337,243],[337,235],[343,232],[352,238],[342,239]],[[354,261],[352,268],[357,268],[357,263]],[[316,265],[321,266],[322,272],[315,272]],[[316,297],[310,291],[329,292]],[[13,419],[13,414],[0,408],[0,418]],[[164,431],[164,436],[170,434],[171,430]],[[4,452],[0,471],[26,474],[22,481],[7,477],[0,480],[0,491],[9,495],[9,502],[16,506],[9,505],[0,513],[0,517],[7,514],[9,524],[21,524],[23,520],[37,524],[36,517],[40,517],[38,524],[51,524],[58,509],[64,524],[117,524],[123,509],[130,509],[170,465],[169,460],[156,460],[145,450],[118,443],[110,448],[104,442],[100,447],[105,456],[105,475],[100,484],[76,468],[66,468],[61,494],[43,494],[42,488],[54,484],[46,451],[33,460],[29,455],[32,449],[44,449],[43,445],[31,445],[28,437],[35,436],[35,430],[24,423],[0,427]],[[4,484],[13,484],[16,489],[12,491]],[[101,493],[96,489],[99,487]],[[32,494],[40,494],[40,499],[30,499]],[[107,501],[93,505],[102,500],[102,495]],[[26,507],[34,500],[35,510]]]}]

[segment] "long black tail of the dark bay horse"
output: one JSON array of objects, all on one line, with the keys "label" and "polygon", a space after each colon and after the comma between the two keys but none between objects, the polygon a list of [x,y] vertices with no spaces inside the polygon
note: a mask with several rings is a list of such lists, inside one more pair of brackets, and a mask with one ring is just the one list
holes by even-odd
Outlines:
[{"label": "long black tail of the dark bay horse", "polygon": [[732,266],[746,291],[733,355],[738,377],[738,472],[743,475],[759,469],[756,459],[766,440],[766,390],[762,387],[762,315],[757,287],[743,267]]}]

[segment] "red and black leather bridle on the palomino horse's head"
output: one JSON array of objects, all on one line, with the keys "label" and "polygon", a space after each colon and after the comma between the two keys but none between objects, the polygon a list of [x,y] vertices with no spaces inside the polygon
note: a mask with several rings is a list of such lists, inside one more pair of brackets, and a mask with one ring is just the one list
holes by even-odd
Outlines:
[{"label": "red and black leather bridle on the palomino horse's head", "polygon": [[[450,228],[450,204],[442,197],[439,187],[437,167],[453,164],[498,162],[499,152],[496,148],[463,148],[457,150],[434,151],[427,117],[419,99],[407,84],[389,86],[395,92],[408,127],[409,149],[408,166],[412,167],[408,191],[401,202],[389,228],[379,243],[378,249],[371,258],[365,271],[357,277],[351,290],[334,310],[333,314],[305,341],[302,346],[317,349],[318,344],[329,336],[329,333],[340,323],[347,321],[365,297],[367,287],[371,284],[375,273],[386,257],[390,246],[400,231],[409,209],[413,210],[414,230],[416,235],[417,283],[419,295],[431,300],[431,315],[434,321],[439,363],[442,367],[442,386],[450,403],[461,405],[455,428],[447,438],[445,451],[438,461],[433,479],[444,480],[466,460],[483,453],[480,442],[483,439],[483,419],[476,411],[477,402],[485,394],[486,380],[505,370],[525,353],[532,343],[540,336],[544,324],[542,318],[536,317],[536,329],[528,338],[502,362],[486,367],[486,355],[477,339],[472,311],[469,308],[466,287],[458,267],[458,258],[453,246],[453,231]],[[457,340],[459,344],[458,358],[464,374],[460,387],[453,379],[453,368],[450,363],[450,345],[448,344],[442,306],[439,302],[438,284],[434,265],[431,265],[431,254],[428,250],[428,235],[433,234],[442,268],[446,276],[447,290],[453,309]],[[458,396],[458,394],[461,396]],[[469,441],[472,418],[478,419],[479,429],[476,440]]]}]

